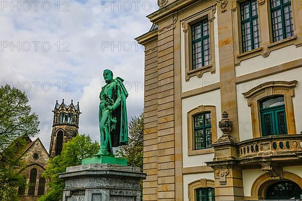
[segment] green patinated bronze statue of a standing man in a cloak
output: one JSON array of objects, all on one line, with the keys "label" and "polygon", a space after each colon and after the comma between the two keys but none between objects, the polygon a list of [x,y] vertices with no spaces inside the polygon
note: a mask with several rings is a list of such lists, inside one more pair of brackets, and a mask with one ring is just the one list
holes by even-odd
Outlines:
[{"label": "green patinated bronze statue of a standing man in a cloak", "polygon": [[106,85],[100,92],[99,122],[101,146],[96,156],[113,156],[112,147],[128,144],[126,98],[123,79],[113,79],[111,70],[103,72]]}]

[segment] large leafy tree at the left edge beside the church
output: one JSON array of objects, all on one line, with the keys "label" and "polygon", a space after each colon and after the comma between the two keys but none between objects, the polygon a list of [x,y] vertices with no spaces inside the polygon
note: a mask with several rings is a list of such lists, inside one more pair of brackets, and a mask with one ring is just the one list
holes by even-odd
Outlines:
[{"label": "large leafy tree at the left edge beside the church", "polygon": [[24,185],[20,173],[25,163],[20,157],[26,140],[39,133],[40,122],[31,113],[28,98],[9,85],[0,88],[0,200],[17,200],[16,186]]}]

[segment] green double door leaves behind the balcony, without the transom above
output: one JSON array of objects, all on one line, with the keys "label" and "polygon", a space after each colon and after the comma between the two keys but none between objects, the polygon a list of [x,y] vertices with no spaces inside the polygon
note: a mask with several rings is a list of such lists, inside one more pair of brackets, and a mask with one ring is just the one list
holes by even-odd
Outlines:
[{"label": "green double door leaves behind the balcony, without the transom above", "polygon": [[285,106],[275,106],[260,109],[262,136],[286,135]]}]

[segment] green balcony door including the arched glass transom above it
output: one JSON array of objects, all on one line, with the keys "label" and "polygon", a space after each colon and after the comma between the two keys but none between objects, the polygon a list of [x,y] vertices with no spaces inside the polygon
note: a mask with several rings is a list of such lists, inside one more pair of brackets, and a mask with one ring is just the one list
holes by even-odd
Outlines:
[{"label": "green balcony door including the arched glass transom above it", "polygon": [[284,96],[273,96],[260,102],[262,136],[286,135]]}]

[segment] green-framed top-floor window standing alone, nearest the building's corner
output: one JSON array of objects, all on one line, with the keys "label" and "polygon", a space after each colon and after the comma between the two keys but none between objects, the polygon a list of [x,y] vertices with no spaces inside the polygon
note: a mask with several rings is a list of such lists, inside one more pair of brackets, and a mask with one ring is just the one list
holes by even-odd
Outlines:
[{"label": "green-framed top-floor window standing alone, nearest the building's corner", "polygon": [[208,19],[192,25],[192,68],[210,64],[210,30]]}]

